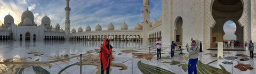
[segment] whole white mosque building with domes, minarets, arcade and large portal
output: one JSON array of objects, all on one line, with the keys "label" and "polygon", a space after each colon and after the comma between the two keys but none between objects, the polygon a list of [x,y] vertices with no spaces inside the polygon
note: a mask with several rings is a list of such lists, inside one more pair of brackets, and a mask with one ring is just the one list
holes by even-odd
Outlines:
[{"label": "whole white mosque building with domes, minarets, arcade and large portal", "polygon": [[[47,15],[42,18],[41,24],[34,22],[34,15],[27,10],[22,13],[21,22],[14,24],[9,14],[4,18],[0,27],[0,40],[92,40],[101,41],[109,38],[115,42],[156,42],[161,38],[164,45],[171,45],[172,41],[180,45],[190,44],[190,38],[202,41],[203,48],[211,48],[215,41],[222,42],[223,24],[233,21],[236,24],[237,40],[240,43],[255,42],[255,9],[256,1],[250,0],[162,0],[162,15],[150,22],[149,0],[143,0],[142,24],[135,24],[134,29],[127,29],[124,22],[121,30],[116,30],[114,24],[108,25],[108,30],[102,30],[100,24],[95,31],[87,26],[70,29],[69,0],[66,0],[65,29],[59,24],[52,27]],[[162,20],[163,19],[163,20]]]}]

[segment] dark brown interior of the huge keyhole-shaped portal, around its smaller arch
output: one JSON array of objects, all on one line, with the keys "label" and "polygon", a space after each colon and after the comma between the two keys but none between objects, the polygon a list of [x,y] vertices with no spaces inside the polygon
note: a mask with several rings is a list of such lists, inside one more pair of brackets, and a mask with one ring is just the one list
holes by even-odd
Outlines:
[{"label": "dark brown interior of the huge keyhole-shaped portal, around its smaller arch", "polygon": [[211,48],[215,47],[215,41],[222,42],[225,32],[223,26],[227,21],[233,21],[236,25],[235,35],[238,42],[243,42],[243,27],[238,20],[243,13],[241,0],[225,1],[215,0],[212,4],[212,16],[216,23],[211,28]]}]

